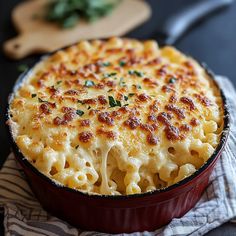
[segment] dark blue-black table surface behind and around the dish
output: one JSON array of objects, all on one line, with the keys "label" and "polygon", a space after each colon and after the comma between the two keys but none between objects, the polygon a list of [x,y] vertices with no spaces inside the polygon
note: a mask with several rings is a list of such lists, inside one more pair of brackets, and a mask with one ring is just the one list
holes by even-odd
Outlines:
[{"label": "dark blue-black table surface behind and around the dish", "polygon": [[[197,0],[148,0],[153,11],[151,19],[130,32],[128,36],[140,39],[155,38],[155,30],[171,13],[194,1]],[[10,13],[19,2],[21,1],[0,0],[0,45],[16,35]],[[236,2],[231,7],[198,23],[175,46],[199,61],[206,62],[215,73],[229,77],[236,85]],[[3,55],[2,49],[0,51],[0,80],[2,83],[0,86],[0,166],[10,152],[4,125],[4,114],[7,96],[19,75],[17,67],[22,63],[32,65],[39,57],[39,55],[35,55],[21,61],[12,61]],[[3,215],[0,214],[0,235],[3,235],[2,221]],[[236,236],[236,224],[226,223],[207,235]]]}]

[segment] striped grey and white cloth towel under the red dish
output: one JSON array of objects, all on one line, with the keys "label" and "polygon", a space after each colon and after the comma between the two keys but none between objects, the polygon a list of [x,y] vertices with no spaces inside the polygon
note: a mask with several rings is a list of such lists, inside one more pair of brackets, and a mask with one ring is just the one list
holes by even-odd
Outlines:
[{"label": "striped grey and white cloth towel under the red dish", "polygon": [[[230,113],[236,111],[236,92],[232,83],[217,77]],[[173,219],[155,232],[133,235],[203,235],[236,217],[236,116],[231,116],[231,131],[225,150],[210,177],[210,183],[197,205],[180,219]],[[13,154],[0,171],[0,208],[4,210],[5,235],[105,235],[85,232],[49,215],[42,209],[25,181]]]}]

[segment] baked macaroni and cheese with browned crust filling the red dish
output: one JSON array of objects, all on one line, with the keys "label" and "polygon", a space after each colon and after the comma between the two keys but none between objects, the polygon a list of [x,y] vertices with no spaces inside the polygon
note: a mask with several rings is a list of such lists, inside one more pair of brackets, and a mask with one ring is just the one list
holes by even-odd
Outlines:
[{"label": "baked macaroni and cheese with browned crust filling the red dish", "polygon": [[166,187],[211,156],[223,126],[204,69],[154,41],[82,41],[40,62],[16,92],[23,154],[66,186],[98,194]]}]

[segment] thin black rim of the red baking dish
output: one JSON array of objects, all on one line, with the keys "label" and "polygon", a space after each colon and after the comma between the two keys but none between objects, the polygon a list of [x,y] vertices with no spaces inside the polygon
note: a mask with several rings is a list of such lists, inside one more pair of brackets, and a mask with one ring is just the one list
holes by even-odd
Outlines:
[{"label": "thin black rim of the red baking dish", "polygon": [[[101,39],[101,40],[107,40],[107,39]],[[91,40],[88,40],[91,41]],[[143,40],[142,40],[143,41]],[[156,41],[156,40],[155,40]],[[21,73],[17,80],[15,81],[13,87],[12,87],[12,92],[10,92],[9,96],[8,96],[8,101],[7,101],[7,108],[6,108],[6,123],[9,119],[11,119],[9,111],[10,111],[10,103],[12,101],[12,99],[14,98],[14,93],[21,87],[21,84],[24,82],[24,80],[26,80],[30,74],[32,73],[32,71],[34,70],[34,68],[41,63],[43,60],[45,60],[46,58],[48,58],[49,56],[53,55],[54,53],[61,51],[61,50],[65,50],[73,45],[78,44],[78,42],[70,44],[68,46],[65,46],[63,48],[59,48],[55,51],[52,51],[50,53],[44,54],[43,56],[41,56],[38,60],[36,60],[36,62],[34,62],[29,69],[27,69],[26,71],[24,71],[23,73]],[[168,46],[168,45],[164,45],[164,46]],[[162,47],[164,47],[162,46]],[[160,48],[162,48],[160,47]],[[192,56],[189,56],[188,54],[185,54],[186,56],[193,58]],[[128,194],[128,195],[105,195],[105,194],[94,194],[94,193],[89,193],[89,192],[82,192],[78,189],[73,189],[70,187],[67,187],[65,185],[62,185],[60,183],[57,183],[56,181],[54,181],[53,179],[51,179],[50,177],[46,176],[45,174],[43,174],[42,172],[40,172],[35,166],[33,166],[33,164],[31,164],[30,161],[28,161],[28,159],[23,155],[23,153],[20,151],[19,147],[17,146],[13,135],[12,135],[12,130],[11,130],[11,126],[10,125],[6,125],[7,126],[7,133],[10,139],[10,143],[11,146],[14,150],[14,152],[16,152],[17,154],[17,158],[20,158],[21,161],[25,164],[25,166],[30,169],[31,171],[34,172],[34,174],[38,175],[39,177],[43,178],[48,184],[53,185],[53,187],[58,188],[58,190],[63,190],[63,191],[67,191],[70,193],[74,193],[74,194],[78,194],[81,197],[87,197],[90,199],[111,199],[111,200],[124,200],[124,199],[138,199],[138,198],[142,198],[142,197],[153,197],[156,195],[161,195],[162,193],[166,193],[166,192],[170,192],[174,189],[179,189],[185,185],[187,185],[188,183],[190,183],[191,181],[193,181],[194,179],[198,178],[199,176],[201,176],[205,170],[217,159],[217,157],[219,155],[221,155],[223,148],[226,144],[228,135],[229,135],[229,131],[230,131],[230,113],[229,113],[229,108],[228,108],[228,103],[226,100],[226,96],[224,94],[224,92],[222,91],[222,89],[220,88],[218,82],[216,81],[215,77],[216,75],[213,73],[212,70],[209,69],[209,67],[207,66],[206,63],[199,63],[198,60],[196,60],[195,58],[193,58],[200,66],[202,66],[206,72],[206,74],[208,75],[208,77],[210,78],[210,80],[213,81],[213,83],[215,84],[215,86],[219,89],[221,98],[222,98],[222,102],[223,102],[223,108],[224,108],[224,114],[223,114],[223,121],[224,121],[224,127],[222,130],[222,134],[220,137],[220,141],[217,145],[217,147],[215,148],[213,154],[210,156],[210,158],[199,168],[197,169],[193,174],[191,174],[190,176],[182,179],[181,181],[170,185],[168,187],[165,188],[161,188],[161,189],[155,189],[152,191],[148,191],[148,192],[144,192],[144,193],[137,193],[137,194]]]}]

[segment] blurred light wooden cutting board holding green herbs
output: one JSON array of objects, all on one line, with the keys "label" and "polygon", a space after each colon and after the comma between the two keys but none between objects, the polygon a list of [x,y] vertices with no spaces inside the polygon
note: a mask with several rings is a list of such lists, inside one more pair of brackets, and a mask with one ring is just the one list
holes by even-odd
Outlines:
[{"label": "blurred light wooden cutting board holding green herbs", "polygon": [[48,0],[25,1],[13,10],[12,20],[19,35],[6,41],[5,53],[21,59],[32,53],[51,52],[81,39],[121,36],[147,20],[151,9],[145,1],[123,0],[113,12],[94,23],[79,22],[74,28],[62,29],[42,20]]}]

